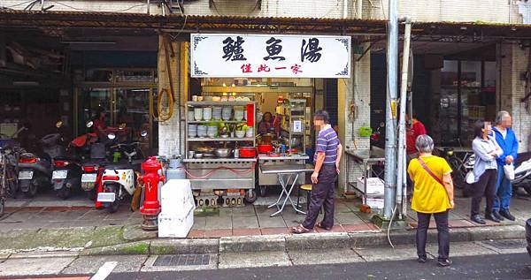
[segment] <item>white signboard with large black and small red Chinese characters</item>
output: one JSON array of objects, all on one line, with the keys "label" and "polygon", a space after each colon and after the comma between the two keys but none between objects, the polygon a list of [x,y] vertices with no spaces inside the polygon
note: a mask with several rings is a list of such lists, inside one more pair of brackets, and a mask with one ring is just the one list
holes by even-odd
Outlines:
[{"label": "white signboard with large black and small red Chinese characters", "polygon": [[350,78],[350,37],[192,34],[197,78]]}]

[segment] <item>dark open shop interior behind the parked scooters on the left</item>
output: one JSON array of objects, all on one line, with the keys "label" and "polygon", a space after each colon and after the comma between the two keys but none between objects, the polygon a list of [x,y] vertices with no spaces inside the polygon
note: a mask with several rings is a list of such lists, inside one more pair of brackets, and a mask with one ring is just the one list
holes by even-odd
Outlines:
[{"label": "dark open shop interior behind the parked scooters on the left", "polygon": [[[0,30],[0,39],[0,143],[16,147],[17,157],[27,152],[43,159],[47,172],[42,182],[52,182],[56,163],[81,168],[92,160],[89,141],[78,147],[72,140],[96,132],[88,124],[96,122],[99,111],[105,116],[102,126],[119,136],[116,141],[140,143],[135,156],[158,154],[157,34],[27,28]],[[60,137],[53,143],[45,141],[56,134]],[[58,154],[51,155],[51,148],[58,148]],[[105,160],[127,160],[105,153]],[[18,190],[16,197],[57,200],[56,194],[47,184],[34,194]],[[79,187],[68,198],[94,203]]]}]

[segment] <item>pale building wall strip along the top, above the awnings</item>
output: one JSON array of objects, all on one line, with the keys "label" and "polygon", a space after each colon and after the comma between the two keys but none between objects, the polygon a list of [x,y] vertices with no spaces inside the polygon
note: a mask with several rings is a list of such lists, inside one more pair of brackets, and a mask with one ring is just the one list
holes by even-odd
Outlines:
[{"label": "pale building wall strip along the top, above the awnings", "polygon": [[[388,0],[263,0],[261,10],[255,1],[214,0],[212,8],[209,0],[185,1],[185,12],[189,15],[222,15],[250,17],[304,17],[342,19],[358,18],[357,2],[363,1],[362,14],[364,19],[386,19]],[[400,0],[398,14],[410,16],[415,21],[463,21],[463,22],[496,22],[521,23],[520,8],[513,0]],[[54,5],[49,11],[111,11],[127,13],[160,14],[162,12],[156,1],[95,1],[95,0],[55,0],[44,6]],[[27,7],[26,0],[4,0],[1,6],[23,10]],[[346,7],[346,10],[344,9]],[[33,10],[40,10],[35,4]],[[511,13],[512,10],[512,13]],[[528,10],[528,9],[527,9]],[[346,11],[346,13],[345,13]],[[523,11],[526,14],[525,11]]]}]

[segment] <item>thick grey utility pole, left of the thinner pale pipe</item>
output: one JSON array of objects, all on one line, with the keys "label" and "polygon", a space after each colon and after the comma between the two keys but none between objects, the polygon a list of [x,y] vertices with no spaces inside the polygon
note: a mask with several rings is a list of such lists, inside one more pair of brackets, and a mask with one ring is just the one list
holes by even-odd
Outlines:
[{"label": "thick grey utility pole, left of the thinner pale pipe", "polygon": [[383,219],[391,220],[396,209],[396,98],[398,63],[398,19],[396,0],[389,0],[387,28],[387,102],[385,129],[385,188]]}]

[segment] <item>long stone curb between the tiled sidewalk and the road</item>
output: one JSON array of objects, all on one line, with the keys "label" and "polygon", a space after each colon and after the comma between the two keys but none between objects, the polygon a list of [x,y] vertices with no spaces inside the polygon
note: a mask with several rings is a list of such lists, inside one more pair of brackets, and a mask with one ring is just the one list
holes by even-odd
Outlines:
[{"label": "long stone curb between the tiled sidewalk and the road", "polygon": [[[416,231],[391,231],[393,245],[415,245]],[[450,229],[451,242],[472,242],[525,237],[520,225]],[[437,231],[428,231],[428,243],[437,242]],[[330,232],[229,238],[150,239],[116,246],[90,248],[81,255],[104,254],[219,254],[267,251],[302,251],[367,246],[389,246],[385,232]]]}]

